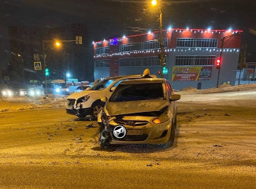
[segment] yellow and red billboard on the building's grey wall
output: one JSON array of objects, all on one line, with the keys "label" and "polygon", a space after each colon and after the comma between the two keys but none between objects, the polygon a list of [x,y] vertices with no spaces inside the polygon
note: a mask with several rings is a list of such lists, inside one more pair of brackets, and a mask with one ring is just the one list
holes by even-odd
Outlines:
[{"label": "yellow and red billboard on the building's grey wall", "polygon": [[210,80],[212,66],[173,66],[173,81]]}]

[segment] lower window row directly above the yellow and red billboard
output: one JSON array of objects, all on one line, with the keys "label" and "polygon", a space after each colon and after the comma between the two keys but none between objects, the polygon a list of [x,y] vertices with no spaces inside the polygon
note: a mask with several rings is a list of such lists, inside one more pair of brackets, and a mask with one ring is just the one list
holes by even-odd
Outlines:
[{"label": "lower window row directly above the yellow and red billboard", "polygon": [[175,65],[214,65],[215,56],[176,56]]}]

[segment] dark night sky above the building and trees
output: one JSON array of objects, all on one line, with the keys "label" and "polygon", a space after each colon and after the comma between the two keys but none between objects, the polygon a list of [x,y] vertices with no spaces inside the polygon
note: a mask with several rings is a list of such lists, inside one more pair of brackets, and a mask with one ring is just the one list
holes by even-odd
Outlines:
[{"label": "dark night sky above the building and trees", "polygon": [[[161,9],[163,28],[242,29],[247,61],[256,61],[256,0],[166,0]],[[8,26],[44,30],[78,22],[87,24],[90,42],[159,29],[150,0],[0,0],[1,61],[8,57]]]}]

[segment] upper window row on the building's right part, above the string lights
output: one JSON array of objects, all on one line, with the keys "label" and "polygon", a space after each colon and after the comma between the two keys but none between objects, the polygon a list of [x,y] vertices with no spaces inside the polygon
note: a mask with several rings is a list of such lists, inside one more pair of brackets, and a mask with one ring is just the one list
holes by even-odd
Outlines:
[{"label": "upper window row on the building's right part, above the string lights", "polygon": [[177,47],[217,48],[217,39],[177,38]]}]

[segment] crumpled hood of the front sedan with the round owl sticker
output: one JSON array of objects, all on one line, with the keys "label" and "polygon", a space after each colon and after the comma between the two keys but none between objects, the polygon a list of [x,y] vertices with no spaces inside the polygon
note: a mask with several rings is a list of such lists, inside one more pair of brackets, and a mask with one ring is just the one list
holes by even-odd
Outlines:
[{"label": "crumpled hood of the front sedan with the round owl sticker", "polygon": [[130,113],[143,113],[159,111],[169,106],[167,100],[143,100],[130,102],[107,102],[106,110],[110,116],[124,115]]}]

